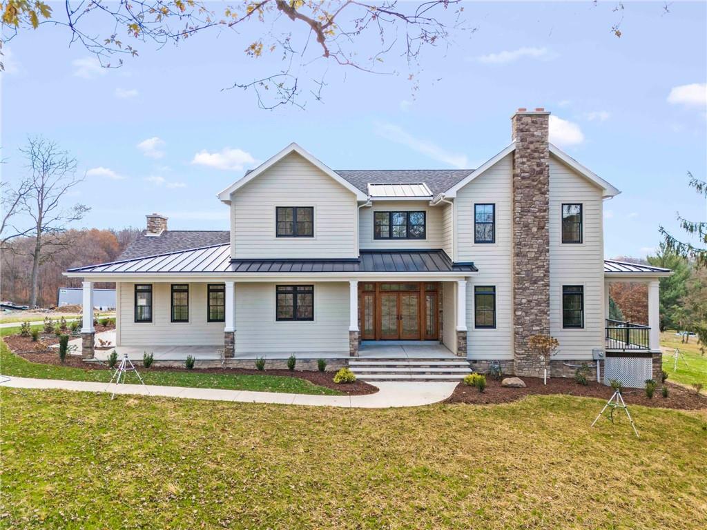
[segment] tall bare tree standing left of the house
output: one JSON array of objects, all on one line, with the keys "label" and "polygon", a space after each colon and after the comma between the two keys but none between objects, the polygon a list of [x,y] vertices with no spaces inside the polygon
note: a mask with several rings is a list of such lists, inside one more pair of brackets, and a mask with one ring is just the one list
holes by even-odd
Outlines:
[{"label": "tall bare tree standing left of the house", "polygon": [[74,204],[69,208],[62,206],[66,192],[83,181],[83,177],[76,177],[76,158],[41,136],[30,137],[27,147],[20,151],[27,157],[30,170],[28,189],[21,198],[20,211],[33,220],[27,233],[34,239],[30,250],[30,307],[35,307],[40,264],[52,259],[55,252],[69,244],[63,237],[68,225],[83,218],[90,208],[83,204]]}]

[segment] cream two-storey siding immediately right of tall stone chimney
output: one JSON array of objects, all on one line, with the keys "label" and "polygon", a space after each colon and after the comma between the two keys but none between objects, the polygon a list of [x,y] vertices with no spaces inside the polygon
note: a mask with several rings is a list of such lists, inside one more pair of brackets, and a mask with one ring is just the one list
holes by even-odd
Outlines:
[{"label": "cream two-storey siding immediately right of tall stone chimney", "polygon": [[[583,242],[564,244],[563,203],[583,204]],[[558,358],[588,359],[604,346],[602,190],[563,163],[550,160],[550,332]],[[562,285],[584,285],[584,329],[562,329]]]}]

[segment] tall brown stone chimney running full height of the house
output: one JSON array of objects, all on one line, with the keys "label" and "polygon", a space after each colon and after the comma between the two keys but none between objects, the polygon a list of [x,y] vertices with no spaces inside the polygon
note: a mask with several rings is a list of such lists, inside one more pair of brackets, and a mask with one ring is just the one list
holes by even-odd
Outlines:
[{"label": "tall brown stone chimney running full height of the house", "polygon": [[513,367],[516,375],[549,375],[527,347],[550,334],[550,113],[518,109],[510,119],[513,154]]}]

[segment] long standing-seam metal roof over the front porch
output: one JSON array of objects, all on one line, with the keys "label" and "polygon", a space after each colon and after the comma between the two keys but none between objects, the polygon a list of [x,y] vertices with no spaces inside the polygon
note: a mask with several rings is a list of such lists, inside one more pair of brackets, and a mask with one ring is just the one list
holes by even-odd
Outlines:
[{"label": "long standing-seam metal roof over the front porch", "polygon": [[84,273],[327,273],[477,272],[473,263],[452,264],[443,250],[362,250],[360,259],[240,259],[230,245],[180,250],[156,256],[69,269]]}]

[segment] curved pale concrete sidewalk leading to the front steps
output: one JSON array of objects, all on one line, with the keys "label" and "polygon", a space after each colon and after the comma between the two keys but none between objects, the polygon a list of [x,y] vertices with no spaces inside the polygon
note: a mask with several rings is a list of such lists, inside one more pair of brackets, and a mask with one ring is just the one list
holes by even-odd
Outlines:
[{"label": "curved pale concrete sidewalk leading to the front steps", "polygon": [[[153,384],[107,384],[65,379],[30,379],[1,376],[0,387],[25,389],[59,389],[83,392],[105,392],[130,395],[164,396],[239,403],[275,403],[284,405],[334,406],[346,408],[388,408],[422,406],[443,401],[452,395],[455,382],[376,382],[379,391],[366,396],[311,396],[249,390],[160,387]],[[8,380],[5,380],[8,379]]]}]

